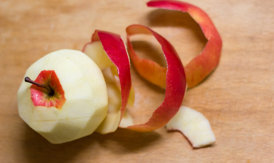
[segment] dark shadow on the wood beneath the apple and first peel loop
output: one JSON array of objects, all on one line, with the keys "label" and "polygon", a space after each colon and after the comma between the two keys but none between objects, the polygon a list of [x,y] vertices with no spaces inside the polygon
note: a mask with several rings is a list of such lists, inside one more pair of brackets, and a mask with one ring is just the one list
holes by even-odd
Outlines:
[{"label": "dark shadow on the wood beneath the apple and first peel loop", "polygon": [[[150,145],[160,136],[155,132],[140,133],[128,129],[117,129],[114,133],[101,135],[93,133],[71,142],[51,144],[40,134],[25,125],[25,137],[21,148],[28,162],[71,162],[78,155],[98,156],[98,148],[108,148],[112,152],[134,152]],[[121,146],[120,148],[117,148]],[[79,156],[78,156],[79,157]],[[77,161],[77,160],[75,160]]]}]

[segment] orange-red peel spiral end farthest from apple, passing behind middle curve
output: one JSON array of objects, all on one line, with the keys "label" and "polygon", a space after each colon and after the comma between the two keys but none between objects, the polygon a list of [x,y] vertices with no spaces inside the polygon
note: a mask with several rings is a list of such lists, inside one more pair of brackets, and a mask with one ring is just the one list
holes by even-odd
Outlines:
[{"label": "orange-red peel spiral end farthest from apple, passing behind middle curve", "polygon": [[[199,24],[208,42],[203,51],[184,67],[188,87],[194,87],[199,84],[216,68],[220,60],[222,40],[211,19],[200,8],[185,2],[155,0],[148,2],[147,6],[187,12]],[[162,67],[151,60],[139,58],[133,49],[129,50],[129,55],[132,58],[136,70],[143,78],[155,85],[163,87],[165,71],[167,70],[166,67]]]}]

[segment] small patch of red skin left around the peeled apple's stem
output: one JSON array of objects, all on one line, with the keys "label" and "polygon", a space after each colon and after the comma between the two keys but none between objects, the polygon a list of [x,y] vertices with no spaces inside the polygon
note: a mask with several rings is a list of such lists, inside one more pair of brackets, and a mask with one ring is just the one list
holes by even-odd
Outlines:
[{"label": "small patch of red skin left around the peeled apple's stem", "polygon": [[44,84],[54,90],[54,94],[50,95],[47,89],[32,84],[30,94],[35,106],[62,108],[66,101],[65,92],[54,70],[41,71],[34,82]]}]

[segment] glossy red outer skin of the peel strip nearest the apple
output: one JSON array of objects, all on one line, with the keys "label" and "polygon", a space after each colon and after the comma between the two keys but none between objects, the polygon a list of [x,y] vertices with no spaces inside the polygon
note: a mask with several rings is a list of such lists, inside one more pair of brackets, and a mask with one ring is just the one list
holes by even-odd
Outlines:
[{"label": "glossy red outer skin of the peel strip nearest the apple", "polygon": [[[101,30],[95,30],[95,33],[92,35],[90,43],[95,41],[100,41],[102,43],[103,49],[107,53],[108,58],[114,63],[118,70],[122,99],[120,108],[121,121],[126,111],[127,101],[131,89],[130,63],[126,47],[121,36]],[[84,46],[83,51],[88,44]]]}]

